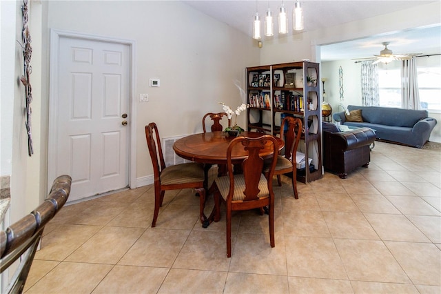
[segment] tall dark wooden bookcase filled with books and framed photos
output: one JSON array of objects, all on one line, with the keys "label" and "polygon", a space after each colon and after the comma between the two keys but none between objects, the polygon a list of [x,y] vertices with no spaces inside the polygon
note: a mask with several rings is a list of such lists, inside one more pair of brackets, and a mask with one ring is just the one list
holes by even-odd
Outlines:
[{"label": "tall dark wooden bookcase filled with books and framed photos", "polygon": [[304,170],[298,170],[297,180],[307,183],[320,179],[322,113],[319,64],[301,61],[254,66],[246,70],[247,130],[278,135],[285,116],[300,117],[304,130],[298,151],[305,154],[305,159],[311,158],[314,167],[306,165]]}]

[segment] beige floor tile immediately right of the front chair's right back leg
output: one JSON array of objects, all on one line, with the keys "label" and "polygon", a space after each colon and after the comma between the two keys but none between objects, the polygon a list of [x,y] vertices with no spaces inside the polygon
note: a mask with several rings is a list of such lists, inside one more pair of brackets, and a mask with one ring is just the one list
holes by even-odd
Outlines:
[{"label": "beige floor tile immediately right of the front chair's right back leg", "polygon": [[284,211],[283,231],[285,235],[331,237],[325,218],[319,211]]}]

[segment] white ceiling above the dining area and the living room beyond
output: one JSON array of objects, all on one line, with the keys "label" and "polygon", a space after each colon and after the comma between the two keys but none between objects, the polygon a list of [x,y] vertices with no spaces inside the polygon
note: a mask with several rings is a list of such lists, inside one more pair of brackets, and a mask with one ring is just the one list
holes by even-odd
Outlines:
[{"label": "white ceiling above the dining area and the living room beyond", "polygon": [[[182,0],[187,5],[192,6],[214,19],[218,19],[227,25],[244,32],[251,38],[252,19],[256,10],[263,21],[265,12],[269,7],[274,17],[274,30],[277,30],[277,13],[283,3],[287,8],[289,19],[291,20],[294,1],[236,1],[236,0]],[[409,9],[435,1],[362,1],[362,0],[300,0],[304,14],[304,31],[319,30],[342,23],[357,21],[375,17],[380,14],[388,14],[399,10]],[[291,20],[292,21],[292,20]],[[292,24],[289,24],[292,26]],[[290,32],[291,35],[300,32]],[[277,32],[273,37],[277,38]],[[391,32],[363,39],[345,41],[342,43],[321,46],[321,60],[331,61],[340,59],[355,59],[373,57],[379,55],[384,48],[382,42],[390,42],[388,48],[393,50],[393,54],[422,53],[423,55],[441,53],[441,26],[431,26],[427,28],[415,28],[402,32]]]}]

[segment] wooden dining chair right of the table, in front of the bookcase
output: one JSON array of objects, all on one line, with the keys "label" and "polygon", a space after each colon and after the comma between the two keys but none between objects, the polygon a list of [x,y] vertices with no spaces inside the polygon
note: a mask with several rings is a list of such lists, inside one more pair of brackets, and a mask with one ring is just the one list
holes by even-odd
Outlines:
[{"label": "wooden dining chair right of the table, in front of the bookcase", "polygon": [[[285,132],[286,128],[286,132]],[[291,173],[292,188],[294,190],[294,197],[298,199],[297,193],[297,168],[296,168],[296,152],[300,136],[302,135],[302,120],[298,117],[285,117],[280,126],[280,138],[285,141],[285,148],[281,155],[277,157],[276,169],[274,175],[277,175],[278,186],[282,186],[280,175]],[[271,179],[269,169],[271,161],[266,161],[263,168],[263,173],[267,179]],[[306,167],[308,168],[308,167]]]}]

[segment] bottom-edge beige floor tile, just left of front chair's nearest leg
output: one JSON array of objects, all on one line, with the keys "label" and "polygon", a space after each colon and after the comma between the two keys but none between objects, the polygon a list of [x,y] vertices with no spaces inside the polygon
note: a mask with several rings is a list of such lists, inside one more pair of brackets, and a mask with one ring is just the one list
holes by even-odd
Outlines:
[{"label": "bottom-edge beige floor tile, just left of front chair's nearest leg", "polygon": [[170,269],[158,293],[223,293],[227,272]]}]

